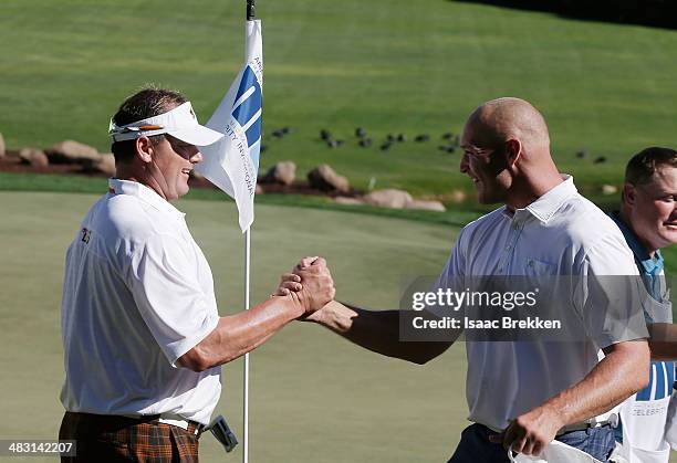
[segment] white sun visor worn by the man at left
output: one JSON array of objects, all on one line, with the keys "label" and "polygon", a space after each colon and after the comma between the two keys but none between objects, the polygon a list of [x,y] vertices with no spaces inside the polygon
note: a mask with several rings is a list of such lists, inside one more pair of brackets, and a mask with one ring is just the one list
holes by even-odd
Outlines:
[{"label": "white sun visor worn by the man at left", "polygon": [[108,126],[108,135],[113,137],[113,141],[133,140],[142,136],[150,137],[160,134],[171,135],[181,141],[196,146],[208,146],[223,138],[223,134],[197,122],[190,102],[186,102],[159,116],[148,117],[124,126],[118,126],[111,119]]}]

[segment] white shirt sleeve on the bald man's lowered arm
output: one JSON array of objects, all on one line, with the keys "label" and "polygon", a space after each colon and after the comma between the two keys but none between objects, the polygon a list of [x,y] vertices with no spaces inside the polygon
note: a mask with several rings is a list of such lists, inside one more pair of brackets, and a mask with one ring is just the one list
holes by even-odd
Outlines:
[{"label": "white shirt sleeve on the bald man's lowered arm", "polygon": [[576,283],[576,299],[589,335],[601,347],[648,337],[646,291],[623,238],[608,236],[589,250]]}]

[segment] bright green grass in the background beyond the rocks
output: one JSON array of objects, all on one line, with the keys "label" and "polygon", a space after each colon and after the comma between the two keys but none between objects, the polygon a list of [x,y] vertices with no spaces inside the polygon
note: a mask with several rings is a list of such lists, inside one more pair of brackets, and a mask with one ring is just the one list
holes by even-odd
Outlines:
[{"label": "bright green grass in the background beyond the rocks", "polygon": [[[242,60],[242,3],[4,0],[0,131],[10,147],[74,138],[107,150],[108,117],[147,82],[185,91],[206,119]],[[361,149],[354,128],[438,137],[502,95],[542,109],[560,167],[582,186],[617,183],[629,155],[674,144],[674,31],[441,0],[260,0],[258,12],[265,130],[293,129],[267,141],[263,169],[330,162],[362,188],[374,177],[377,188],[445,198],[470,189],[458,155],[440,154],[437,139]],[[347,145],[326,149],[323,127]],[[579,161],[580,148],[610,162]]]}]

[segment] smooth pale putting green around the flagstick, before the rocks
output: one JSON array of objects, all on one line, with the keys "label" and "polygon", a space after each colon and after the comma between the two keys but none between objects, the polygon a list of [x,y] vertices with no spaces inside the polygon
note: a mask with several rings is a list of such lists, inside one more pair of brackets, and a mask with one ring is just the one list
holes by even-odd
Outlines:
[{"label": "smooth pale putting green around the flagstick, before the rocks", "polygon": [[[0,436],[56,435],[63,379],[59,304],[63,252],[91,194],[0,192]],[[210,261],[221,314],[242,304],[242,238],[235,207],[183,201]],[[252,299],[304,254],[325,255],[341,298],[397,305],[404,275],[435,274],[456,229],[345,212],[260,206],[253,232]],[[465,425],[465,349],[427,366],[353,347],[317,326],[296,323],[251,359],[251,462],[446,461]],[[241,361],[223,368],[218,411],[241,433]],[[210,435],[205,462],[225,457]],[[20,461],[13,460],[12,461]],[[39,461],[30,459],[27,461]]]}]

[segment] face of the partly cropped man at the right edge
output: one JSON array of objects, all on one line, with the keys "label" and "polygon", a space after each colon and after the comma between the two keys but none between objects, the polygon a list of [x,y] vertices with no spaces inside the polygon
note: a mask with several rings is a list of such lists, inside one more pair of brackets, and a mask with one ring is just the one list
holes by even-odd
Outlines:
[{"label": "face of the partly cropped man at the right edge", "polygon": [[656,168],[652,181],[625,185],[631,228],[649,252],[677,243],[677,168]]}]

